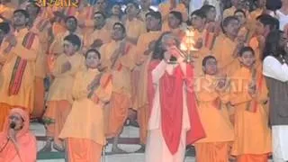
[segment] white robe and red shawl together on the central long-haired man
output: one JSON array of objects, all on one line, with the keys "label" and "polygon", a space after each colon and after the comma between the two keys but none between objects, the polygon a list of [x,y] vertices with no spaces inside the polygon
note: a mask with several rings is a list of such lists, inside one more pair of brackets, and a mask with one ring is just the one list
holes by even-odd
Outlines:
[{"label": "white robe and red shawl together on the central long-haired man", "polygon": [[177,64],[154,59],[148,68],[146,162],[183,162],[186,145],[205,137],[193,93],[193,67],[172,48]]}]

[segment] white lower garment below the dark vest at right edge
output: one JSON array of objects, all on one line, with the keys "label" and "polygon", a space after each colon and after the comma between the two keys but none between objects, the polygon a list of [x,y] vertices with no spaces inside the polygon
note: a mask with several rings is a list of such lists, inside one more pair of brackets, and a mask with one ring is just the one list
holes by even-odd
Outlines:
[{"label": "white lower garment below the dark vest at right edge", "polygon": [[274,162],[288,161],[288,125],[272,126]]}]

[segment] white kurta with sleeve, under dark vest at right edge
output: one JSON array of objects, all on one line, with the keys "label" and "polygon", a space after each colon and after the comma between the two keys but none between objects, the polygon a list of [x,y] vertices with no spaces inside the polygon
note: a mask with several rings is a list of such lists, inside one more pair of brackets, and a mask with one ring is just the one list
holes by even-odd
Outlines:
[{"label": "white kurta with sleeve, under dark vest at right edge", "polygon": [[[276,58],[268,56],[263,62],[263,75],[281,82],[288,81],[288,66]],[[288,161],[288,125],[272,126],[272,144],[274,162]]]}]

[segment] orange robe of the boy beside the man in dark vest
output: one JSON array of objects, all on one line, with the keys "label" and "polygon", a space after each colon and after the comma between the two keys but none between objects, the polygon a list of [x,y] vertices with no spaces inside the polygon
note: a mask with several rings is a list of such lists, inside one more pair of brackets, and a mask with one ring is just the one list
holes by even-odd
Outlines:
[{"label": "orange robe of the boy beside the man in dark vest", "polygon": [[[235,106],[235,141],[232,155],[238,161],[267,161],[271,152],[271,130],[268,127],[268,112],[264,104],[267,101],[266,80],[262,72],[255,73],[247,67],[241,67],[231,77],[230,103]],[[251,80],[256,81],[257,94],[252,97],[247,92]]]}]

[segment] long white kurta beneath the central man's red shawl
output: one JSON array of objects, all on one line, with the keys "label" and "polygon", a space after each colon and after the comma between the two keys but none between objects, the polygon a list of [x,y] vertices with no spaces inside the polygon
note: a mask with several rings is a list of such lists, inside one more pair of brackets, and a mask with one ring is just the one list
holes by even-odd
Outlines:
[{"label": "long white kurta beneath the central man's red shawl", "polygon": [[[151,116],[148,121],[148,139],[147,148],[145,152],[146,162],[183,162],[186,148],[186,132],[190,130],[190,121],[186,103],[185,90],[183,91],[184,97],[184,110],[181,139],[178,151],[172,155],[166,146],[166,141],[162,135],[161,130],[161,107],[160,107],[160,94],[159,94],[159,79],[165,74],[166,63],[161,61],[159,65],[152,71],[153,84],[156,87],[156,94],[153,101],[153,108]],[[168,65],[171,66],[171,65]]]}]

